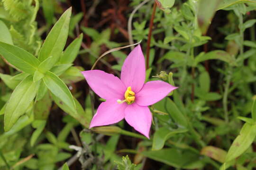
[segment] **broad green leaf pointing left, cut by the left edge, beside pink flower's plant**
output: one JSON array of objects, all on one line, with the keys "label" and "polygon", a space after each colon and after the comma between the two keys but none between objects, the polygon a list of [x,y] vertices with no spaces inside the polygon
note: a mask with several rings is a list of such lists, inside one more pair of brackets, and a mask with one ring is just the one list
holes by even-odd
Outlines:
[{"label": "broad green leaf pointing left, cut by the left edge, beside pink flower's plant", "polygon": [[0,42],[0,54],[14,67],[34,74],[39,66],[39,60],[29,52],[4,42]]}]

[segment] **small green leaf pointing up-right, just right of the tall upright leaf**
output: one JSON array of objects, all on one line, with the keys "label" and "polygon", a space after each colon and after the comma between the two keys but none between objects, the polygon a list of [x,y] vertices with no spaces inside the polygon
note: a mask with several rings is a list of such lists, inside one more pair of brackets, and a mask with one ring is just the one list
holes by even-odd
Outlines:
[{"label": "small green leaf pointing up-right, just right of the tall upright leaf", "polygon": [[82,34],[79,35],[64,51],[60,58],[60,64],[71,64],[75,60],[81,47]]}]

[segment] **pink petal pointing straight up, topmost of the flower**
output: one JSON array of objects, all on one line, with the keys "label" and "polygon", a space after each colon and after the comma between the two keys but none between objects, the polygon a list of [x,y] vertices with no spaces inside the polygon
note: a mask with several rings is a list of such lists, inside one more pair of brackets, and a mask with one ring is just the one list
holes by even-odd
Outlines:
[{"label": "pink petal pointing straight up, topmost of the flower", "polygon": [[125,59],[121,80],[126,87],[131,86],[132,91],[139,92],[142,88],[146,77],[145,59],[140,45],[134,48]]}]

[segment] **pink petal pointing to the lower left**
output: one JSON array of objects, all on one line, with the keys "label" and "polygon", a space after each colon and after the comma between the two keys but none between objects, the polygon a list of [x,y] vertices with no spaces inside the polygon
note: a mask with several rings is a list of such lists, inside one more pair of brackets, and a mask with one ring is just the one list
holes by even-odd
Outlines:
[{"label": "pink petal pointing to the lower left", "polygon": [[91,127],[105,126],[124,119],[127,103],[119,104],[116,99],[102,102],[91,120]]}]

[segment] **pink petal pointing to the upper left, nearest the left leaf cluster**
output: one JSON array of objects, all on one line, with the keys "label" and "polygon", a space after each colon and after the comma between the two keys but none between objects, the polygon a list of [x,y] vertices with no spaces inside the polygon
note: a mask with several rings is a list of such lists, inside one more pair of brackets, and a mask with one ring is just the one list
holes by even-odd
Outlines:
[{"label": "pink petal pointing to the upper left, nearest the left leaf cluster", "polygon": [[101,70],[82,71],[91,89],[103,99],[124,99],[126,91],[121,80]]}]

